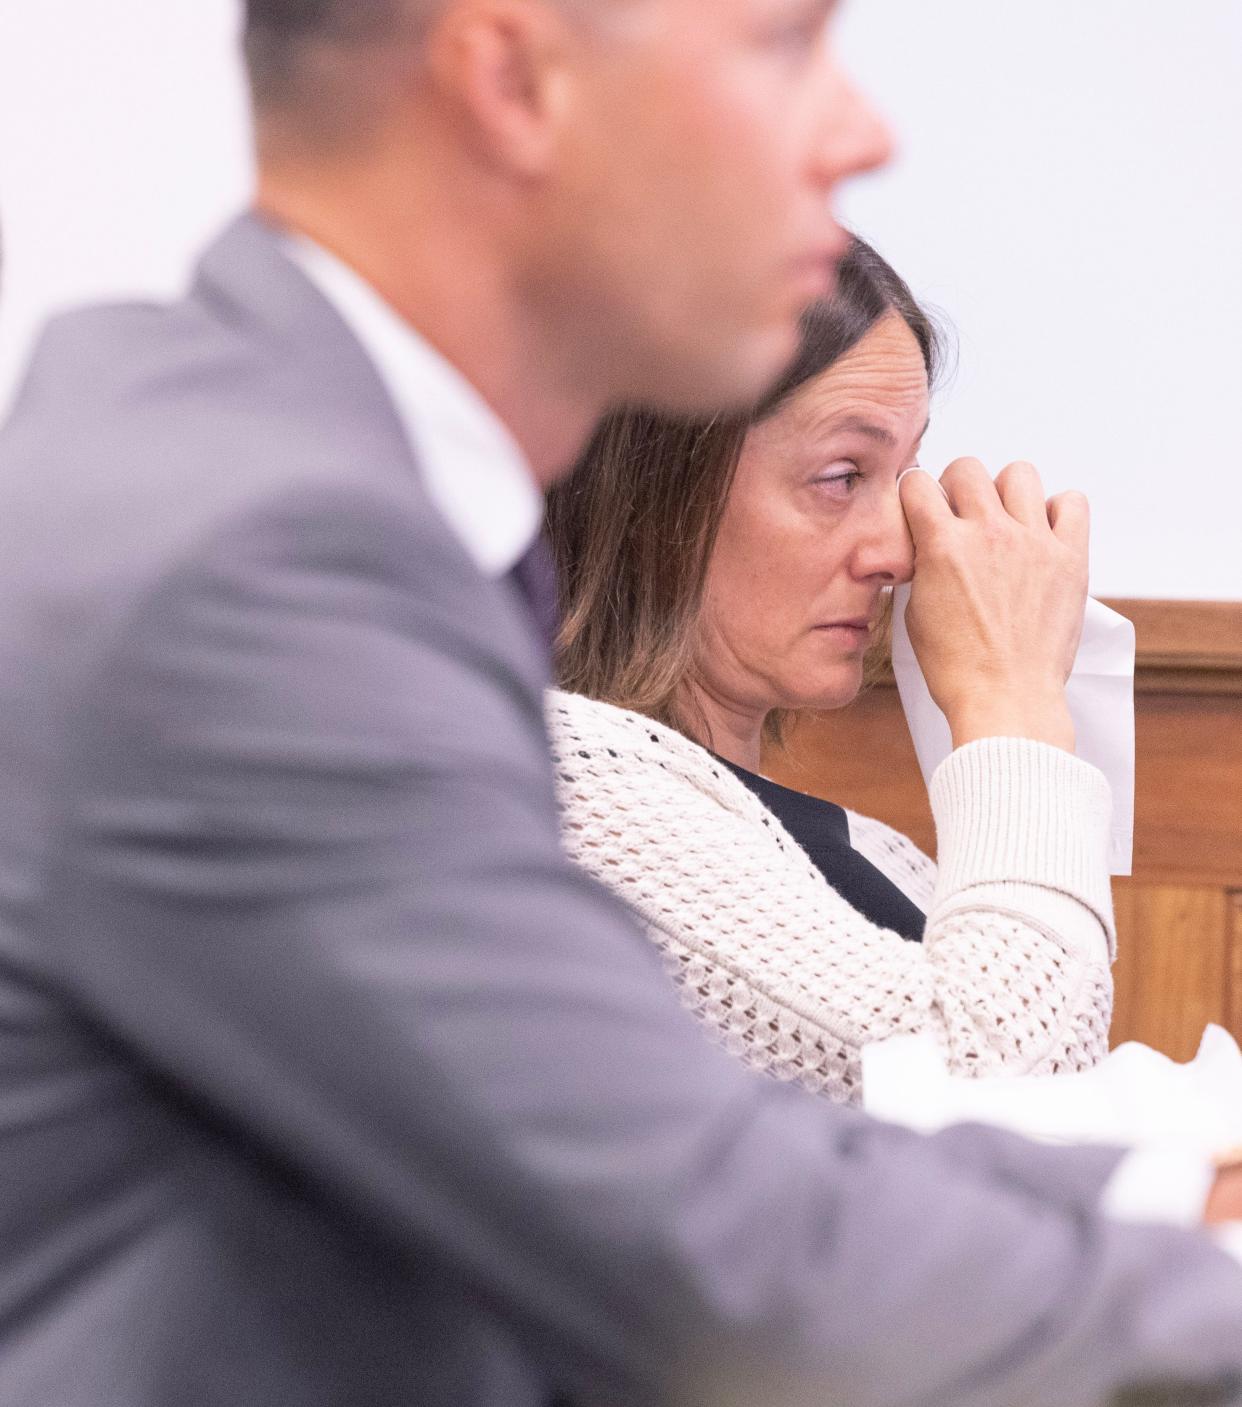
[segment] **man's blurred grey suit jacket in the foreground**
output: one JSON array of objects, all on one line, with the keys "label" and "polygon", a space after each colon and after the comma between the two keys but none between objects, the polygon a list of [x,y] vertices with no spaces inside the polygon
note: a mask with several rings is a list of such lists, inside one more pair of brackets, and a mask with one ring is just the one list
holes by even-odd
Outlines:
[{"label": "man's blurred grey suit jacket in the foreground", "polygon": [[0,1403],[1236,1377],[1242,1273],[1101,1221],[1115,1154],[713,1048],[560,853],[543,684],[260,224],[49,329],[0,436]]}]

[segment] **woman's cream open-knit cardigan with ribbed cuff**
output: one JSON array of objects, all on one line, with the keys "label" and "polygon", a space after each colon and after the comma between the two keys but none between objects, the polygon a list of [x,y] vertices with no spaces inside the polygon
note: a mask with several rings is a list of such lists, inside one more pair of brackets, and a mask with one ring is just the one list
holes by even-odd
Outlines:
[{"label": "woman's cream open-knit cardigan with ribbed cuff", "polygon": [[861,1097],[868,1041],[931,1031],[959,1072],[1056,1074],[1107,1051],[1113,909],[1104,777],[985,739],[931,781],[937,868],[850,815],[855,850],[927,912],[921,944],[871,923],[776,816],[681,733],[550,692],[571,857],[637,910],[684,1002],[748,1064]]}]

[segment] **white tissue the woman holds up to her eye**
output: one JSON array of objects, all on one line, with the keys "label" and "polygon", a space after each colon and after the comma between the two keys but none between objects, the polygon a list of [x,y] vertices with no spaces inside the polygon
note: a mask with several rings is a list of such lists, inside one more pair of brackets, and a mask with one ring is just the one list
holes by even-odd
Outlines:
[{"label": "white tissue the woman holds up to her eye", "polygon": [[[906,630],[910,587],[893,591],[893,674],[924,782],[952,751],[948,719],[931,701]],[[1108,778],[1113,829],[1108,872],[1128,875],[1134,860],[1134,625],[1087,601],[1083,637],[1066,685],[1076,754]]]}]

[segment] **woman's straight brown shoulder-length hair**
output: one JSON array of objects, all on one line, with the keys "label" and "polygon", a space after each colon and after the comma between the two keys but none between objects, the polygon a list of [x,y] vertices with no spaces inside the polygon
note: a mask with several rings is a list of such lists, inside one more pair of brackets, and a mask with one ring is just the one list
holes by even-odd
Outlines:
[{"label": "woman's straight brown shoulder-length hair", "polygon": [[685,684],[695,670],[708,563],[747,432],[889,312],[906,321],[934,380],[935,326],[900,276],[857,239],[833,295],[803,315],[793,363],[753,411],[686,421],[623,409],[601,424],[549,497],[561,688],[696,732],[685,716]]}]

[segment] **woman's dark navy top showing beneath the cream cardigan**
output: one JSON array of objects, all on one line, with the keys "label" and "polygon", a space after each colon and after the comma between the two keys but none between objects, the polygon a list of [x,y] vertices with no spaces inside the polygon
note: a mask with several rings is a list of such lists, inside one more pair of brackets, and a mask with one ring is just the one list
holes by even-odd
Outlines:
[{"label": "woman's dark navy top showing beneath the cream cardigan", "polygon": [[776,816],[843,899],[882,929],[923,941],[927,915],[850,844],[850,817],[840,806],[720,761]]}]

